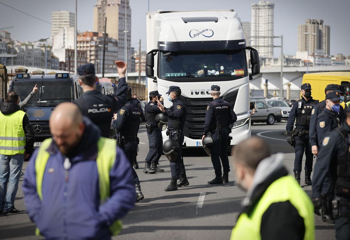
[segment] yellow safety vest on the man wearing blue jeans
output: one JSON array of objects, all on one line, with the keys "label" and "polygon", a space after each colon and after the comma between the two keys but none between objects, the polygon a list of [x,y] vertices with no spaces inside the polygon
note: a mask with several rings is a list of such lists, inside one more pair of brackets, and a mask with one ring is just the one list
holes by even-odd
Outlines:
[{"label": "yellow safety vest on the man wearing blue jeans", "polygon": [[26,113],[18,110],[3,115],[0,111],[0,154],[23,154],[26,148],[26,133],[23,129],[23,117]]}]

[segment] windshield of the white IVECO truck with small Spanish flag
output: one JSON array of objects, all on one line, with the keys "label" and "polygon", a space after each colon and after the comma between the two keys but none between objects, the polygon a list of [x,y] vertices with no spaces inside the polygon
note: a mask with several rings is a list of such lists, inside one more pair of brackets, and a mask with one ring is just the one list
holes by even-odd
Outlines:
[{"label": "windshield of the white IVECO truck with small Spanish flag", "polygon": [[160,54],[160,78],[248,75],[245,49]]}]

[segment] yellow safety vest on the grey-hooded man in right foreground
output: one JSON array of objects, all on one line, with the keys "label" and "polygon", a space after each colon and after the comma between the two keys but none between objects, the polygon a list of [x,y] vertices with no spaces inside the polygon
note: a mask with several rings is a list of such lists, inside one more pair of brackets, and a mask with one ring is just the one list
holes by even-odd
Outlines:
[{"label": "yellow safety vest on the grey-hooded man in right foreground", "polygon": [[[315,239],[314,207],[309,196],[302,190],[292,176],[285,176],[274,181],[262,195],[253,212],[239,216],[232,230],[231,240],[261,239],[260,226],[262,215],[267,208],[278,202],[290,201],[304,219],[305,240]],[[288,218],[288,216],[286,216]]]}]

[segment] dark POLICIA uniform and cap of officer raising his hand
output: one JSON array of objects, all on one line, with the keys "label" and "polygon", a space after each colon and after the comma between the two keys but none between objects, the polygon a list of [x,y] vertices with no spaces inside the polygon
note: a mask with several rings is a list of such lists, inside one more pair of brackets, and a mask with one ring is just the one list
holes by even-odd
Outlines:
[{"label": "dark POLICIA uniform and cap of officer raising his hand", "polygon": [[[91,63],[85,64],[78,67],[78,74],[80,76],[95,74],[95,68]],[[103,95],[97,90],[92,90],[84,92],[74,101],[82,114],[98,126],[102,137],[110,137],[111,119],[114,112],[117,112],[126,102],[126,88],[125,77],[122,77],[119,79],[115,95]]]}]

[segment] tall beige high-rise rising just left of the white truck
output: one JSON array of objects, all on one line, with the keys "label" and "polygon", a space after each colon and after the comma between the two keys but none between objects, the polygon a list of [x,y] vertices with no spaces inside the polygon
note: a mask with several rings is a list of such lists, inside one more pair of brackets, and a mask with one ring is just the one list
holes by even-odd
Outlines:
[{"label": "tall beige high-rise rising just left of the white truck", "polygon": [[[125,6],[126,5],[126,6]],[[119,60],[125,61],[125,7],[127,7],[127,62],[131,63],[131,9],[129,0],[97,0],[93,8],[93,31],[104,32],[104,19],[107,18],[106,33],[111,39],[118,40]],[[132,64],[128,64],[132,71]]]}]

